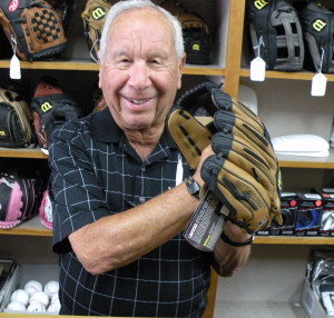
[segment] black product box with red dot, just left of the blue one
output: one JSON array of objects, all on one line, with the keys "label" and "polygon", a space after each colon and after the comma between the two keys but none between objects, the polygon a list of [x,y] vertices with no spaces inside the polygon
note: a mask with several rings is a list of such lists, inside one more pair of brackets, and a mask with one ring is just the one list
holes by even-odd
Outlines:
[{"label": "black product box with red dot, just left of the blue one", "polygon": [[298,195],[295,192],[282,192],[281,213],[282,213],[283,223],[278,225],[274,220],[271,228],[271,235],[274,236],[295,235],[297,212],[298,212]]}]

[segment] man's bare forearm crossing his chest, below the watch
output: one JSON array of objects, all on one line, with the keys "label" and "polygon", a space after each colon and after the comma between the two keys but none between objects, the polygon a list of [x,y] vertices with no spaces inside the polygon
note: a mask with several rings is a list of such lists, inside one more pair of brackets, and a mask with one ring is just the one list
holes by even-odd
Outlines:
[{"label": "man's bare forearm crossing his chest, below the watch", "polygon": [[175,237],[198,203],[183,182],[138,207],[76,230],[69,241],[85,269],[98,275],[125,266]]}]

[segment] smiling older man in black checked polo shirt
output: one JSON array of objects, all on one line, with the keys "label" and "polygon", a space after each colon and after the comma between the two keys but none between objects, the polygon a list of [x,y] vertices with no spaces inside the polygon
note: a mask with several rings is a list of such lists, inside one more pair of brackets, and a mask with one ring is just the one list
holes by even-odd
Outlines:
[{"label": "smiling older man in black checked polo shirt", "polygon": [[[119,1],[99,62],[108,107],[66,123],[49,148],[60,314],[202,317],[210,267],[233,275],[249,246],[219,240],[209,254],[183,237],[199,199],[176,182],[191,170],[165,125],[185,64],[179,22],[148,0]],[[212,153],[203,152],[191,176],[198,187]],[[230,222],[224,231],[234,241],[249,238]]]}]

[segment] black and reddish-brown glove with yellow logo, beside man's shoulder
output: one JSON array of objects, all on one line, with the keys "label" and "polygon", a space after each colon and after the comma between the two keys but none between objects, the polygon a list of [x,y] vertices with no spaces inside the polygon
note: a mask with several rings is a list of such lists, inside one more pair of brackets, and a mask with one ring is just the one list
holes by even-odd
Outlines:
[{"label": "black and reddish-brown glove with yellow logo, beside man's shoulder", "polygon": [[77,119],[81,112],[77,102],[62,91],[58,81],[51,77],[43,77],[36,87],[31,100],[33,128],[39,146],[48,153],[50,133],[66,121]]}]

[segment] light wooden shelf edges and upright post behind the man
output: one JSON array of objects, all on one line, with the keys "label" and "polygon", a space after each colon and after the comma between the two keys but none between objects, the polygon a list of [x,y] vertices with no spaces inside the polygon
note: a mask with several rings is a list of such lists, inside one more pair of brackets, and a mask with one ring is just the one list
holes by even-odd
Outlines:
[{"label": "light wooden shelf edges and upright post behind the man", "polygon": [[[186,1],[186,0],[181,0]],[[194,0],[193,0],[194,1]],[[199,1],[199,0],[198,0]],[[189,2],[189,1],[188,1]],[[194,1],[196,2],[196,1]],[[218,43],[216,43],[216,50],[224,51],[223,56],[224,60],[215,61],[215,63],[210,66],[191,66],[187,64],[184,69],[184,74],[191,77],[218,77],[224,80],[224,89],[232,97],[236,98],[238,96],[239,85],[242,80],[249,78],[249,69],[246,67],[242,67],[242,52],[243,52],[243,36],[244,36],[244,16],[245,16],[245,4],[246,0],[216,0],[217,8],[224,11],[218,14],[215,12],[217,17],[224,17],[227,21],[224,26],[227,28],[223,28],[222,21],[217,22],[217,29],[219,29],[219,34],[216,39]],[[219,6],[218,6],[219,4]],[[203,8],[206,6],[206,1],[202,1]],[[223,30],[223,31],[222,31]],[[223,32],[223,33],[222,33]],[[225,33],[224,33],[225,32]],[[223,46],[226,41],[226,47]],[[220,39],[222,43],[220,43]],[[36,61],[36,62],[21,62],[22,70],[29,71],[78,71],[78,72],[98,72],[98,64],[92,62],[89,59],[69,59],[69,60],[55,60],[55,61]],[[9,61],[0,60],[0,72],[6,73],[9,72]],[[266,78],[271,80],[283,80],[293,83],[293,81],[310,81],[313,78],[314,73],[312,72],[277,72],[277,71],[266,71]],[[328,82],[334,82],[334,74],[326,74]],[[0,160],[1,158],[21,158],[21,159],[42,159],[47,160],[48,156],[41,152],[39,149],[4,149],[0,148]],[[332,149],[328,157],[325,158],[306,158],[306,157],[296,157],[296,156],[278,156],[279,166],[283,169],[292,170],[292,173],[295,169],[316,169],[321,170],[333,170],[334,169],[334,150]],[[49,239],[52,236],[52,231],[43,228],[40,222],[38,216],[32,218],[31,220],[21,223],[20,226],[12,228],[10,230],[0,230],[0,239],[9,238],[14,239],[16,237],[31,237],[31,238],[47,238]],[[256,250],[264,249],[271,251],[272,249],[279,249],[288,251],[289,249],[301,248],[307,249],[313,246],[332,246],[334,245],[334,238],[332,237],[276,237],[276,236],[256,236],[254,240],[254,247]],[[1,246],[1,245],[0,245]],[[281,247],[284,249],[281,249]],[[24,247],[26,248],[26,247]],[[1,248],[0,248],[1,251]],[[29,252],[29,248],[27,251]],[[283,255],[284,257],[284,255]],[[255,260],[257,261],[257,260]],[[299,264],[299,260],[295,260],[295,262]],[[265,265],[264,265],[265,266]],[[247,274],[253,276],[254,272],[249,270]],[[245,275],[246,279],[248,279],[247,274]],[[265,281],[266,278],[264,278]],[[216,289],[219,287],[219,279],[216,275],[213,275],[213,282],[209,290],[209,306],[207,311],[205,312],[205,318],[212,318],[215,316],[215,305],[216,302]],[[224,284],[223,284],[224,285]],[[237,281],[238,285],[238,281]],[[250,285],[250,284],[249,284]],[[252,285],[250,285],[252,286]],[[252,292],[256,292],[256,290],[248,291],[247,295]],[[237,294],[239,297],[239,294]],[[243,297],[243,296],[240,296]],[[247,298],[247,297],[246,297]],[[217,299],[219,301],[219,299]],[[246,304],[243,299],[239,299],[240,302]],[[248,304],[248,302],[247,302]],[[262,302],[264,305],[265,302]],[[233,305],[234,306],[234,305]],[[258,306],[258,305],[257,305]],[[261,307],[261,306],[259,306]],[[229,310],[227,310],[226,318],[229,317]],[[9,315],[0,314],[0,317],[7,317]],[[30,315],[31,317],[52,317],[48,315]],[[11,314],[10,317],[21,318],[22,315]],[[219,317],[219,316],[215,316]],[[240,315],[232,317],[240,317]],[[259,318],[264,318],[257,316]],[[296,316],[297,317],[297,316]],[[265,318],[269,318],[265,317]],[[297,317],[299,318],[299,317]]]}]

